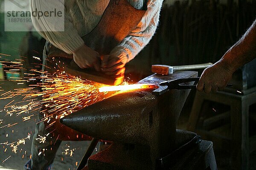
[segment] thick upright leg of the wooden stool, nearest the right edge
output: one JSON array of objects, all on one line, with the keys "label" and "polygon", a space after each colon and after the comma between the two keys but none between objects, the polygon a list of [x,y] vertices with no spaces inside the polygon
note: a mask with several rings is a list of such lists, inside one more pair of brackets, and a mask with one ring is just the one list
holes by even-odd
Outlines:
[{"label": "thick upright leg of the wooden stool, nearest the right edge", "polygon": [[247,170],[249,168],[249,106],[244,101],[231,104],[231,168]]}]

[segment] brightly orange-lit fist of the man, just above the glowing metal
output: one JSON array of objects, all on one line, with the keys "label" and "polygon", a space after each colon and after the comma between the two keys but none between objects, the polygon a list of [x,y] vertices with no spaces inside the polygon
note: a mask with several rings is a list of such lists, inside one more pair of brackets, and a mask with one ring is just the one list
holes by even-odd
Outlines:
[{"label": "brightly orange-lit fist of the man, just above the glowing metal", "polygon": [[106,75],[113,76],[115,79],[124,78],[125,64],[114,55],[104,55],[102,57],[102,72]]}]

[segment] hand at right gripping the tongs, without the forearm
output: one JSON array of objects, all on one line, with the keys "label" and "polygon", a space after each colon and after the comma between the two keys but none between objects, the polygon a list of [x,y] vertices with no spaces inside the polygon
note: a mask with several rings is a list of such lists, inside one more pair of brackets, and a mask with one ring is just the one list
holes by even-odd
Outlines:
[{"label": "hand at right gripping the tongs, without the forearm", "polygon": [[206,68],[198,81],[198,91],[209,93],[223,90],[230,82],[233,74],[228,68],[229,66],[226,66],[222,61]]}]

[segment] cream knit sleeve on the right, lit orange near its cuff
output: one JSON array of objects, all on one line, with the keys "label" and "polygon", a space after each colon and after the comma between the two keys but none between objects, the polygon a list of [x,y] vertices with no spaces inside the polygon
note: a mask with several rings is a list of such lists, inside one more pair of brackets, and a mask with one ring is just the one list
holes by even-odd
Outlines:
[{"label": "cream knit sleeve on the right, lit orange near its cuff", "polygon": [[111,51],[111,55],[127,63],[149,43],[157,29],[162,3],[163,0],[148,1],[148,9],[137,28]]}]

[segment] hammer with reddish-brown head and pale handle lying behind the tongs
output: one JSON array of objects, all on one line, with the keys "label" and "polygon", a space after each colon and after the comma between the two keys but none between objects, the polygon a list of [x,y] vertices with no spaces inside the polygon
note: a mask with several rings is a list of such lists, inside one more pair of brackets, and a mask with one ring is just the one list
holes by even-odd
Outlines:
[{"label": "hammer with reddish-brown head and pale handle lying behind the tongs", "polygon": [[190,70],[190,69],[205,69],[209,66],[212,66],[212,63],[204,63],[204,64],[192,64],[192,65],[184,65],[184,66],[168,66],[168,65],[152,65],[151,70],[159,75],[170,75],[174,71],[178,70]]}]

